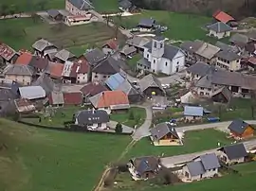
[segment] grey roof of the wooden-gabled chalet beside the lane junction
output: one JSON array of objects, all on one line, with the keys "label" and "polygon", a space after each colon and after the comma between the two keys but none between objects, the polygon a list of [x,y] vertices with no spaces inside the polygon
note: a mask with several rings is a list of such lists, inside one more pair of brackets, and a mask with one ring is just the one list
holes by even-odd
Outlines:
[{"label": "grey roof of the wooden-gabled chalet beside the lane junction", "polygon": [[166,134],[171,133],[174,135],[176,139],[179,139],[179,136],[177,134],[177,131],[173,126],[171,126],[170,123],[160,123],[155,126],[155,128],[152,128],[150,130],[151,135],[153,136],[154,140],[160,140],[163,138]]}]

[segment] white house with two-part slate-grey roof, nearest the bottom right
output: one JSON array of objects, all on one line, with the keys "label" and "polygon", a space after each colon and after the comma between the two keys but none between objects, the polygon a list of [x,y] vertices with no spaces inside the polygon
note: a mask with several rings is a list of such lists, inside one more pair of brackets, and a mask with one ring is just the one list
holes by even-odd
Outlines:
[{"label": "white house with two-part slate-grey roof, nearest the bottom right", "polygon": [[183,176],[190,181],[200,181],[218,176],[221,165],[215,153],[209,153],[196,157],[182,167]]}]

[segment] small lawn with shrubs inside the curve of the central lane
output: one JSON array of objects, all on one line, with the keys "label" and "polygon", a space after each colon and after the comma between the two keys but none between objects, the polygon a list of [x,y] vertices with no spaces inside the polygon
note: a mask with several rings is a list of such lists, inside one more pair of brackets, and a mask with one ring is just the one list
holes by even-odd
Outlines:
[{"label": "small lawn with shrubs inside the curve of the central lane", "polygon": [[[134,119],[130,119],[130,113],[134,113]],[[110,115],[110,119],[117,121],[125,126],[137,127],[141,126],[146,119],[146,111],[143,108],[132,107],[128,113],[113,113]],[[137,123],[137,119],[138,123]]]}]

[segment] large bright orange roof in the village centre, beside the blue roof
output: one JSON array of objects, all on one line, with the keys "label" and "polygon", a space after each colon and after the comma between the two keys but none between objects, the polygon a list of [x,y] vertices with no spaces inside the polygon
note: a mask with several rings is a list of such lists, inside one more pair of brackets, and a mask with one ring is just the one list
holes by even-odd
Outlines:
[{"label": "large bright orange roof in the village centre, beside the blue roof", "polygon": [[104,91],[98,99],[97,108],[105,108],[122,104],[129,104],[128,96],[122,91]]}]

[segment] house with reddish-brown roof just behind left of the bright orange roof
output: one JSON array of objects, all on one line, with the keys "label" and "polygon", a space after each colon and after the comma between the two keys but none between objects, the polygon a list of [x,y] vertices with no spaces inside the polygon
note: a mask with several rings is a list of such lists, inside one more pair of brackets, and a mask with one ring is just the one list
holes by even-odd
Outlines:
[{"label": "house with reddish-brown roof just behind left of the bright orange roof", "polygon": [[101,92],[104,92],[107,90],[108,89],[101,83],[90,82],[84,85],[80,91],[82,92],[82,95],[83,95],[83,102],[86,104],[90,102],[89,97],[96,96]]}]

